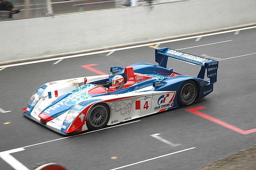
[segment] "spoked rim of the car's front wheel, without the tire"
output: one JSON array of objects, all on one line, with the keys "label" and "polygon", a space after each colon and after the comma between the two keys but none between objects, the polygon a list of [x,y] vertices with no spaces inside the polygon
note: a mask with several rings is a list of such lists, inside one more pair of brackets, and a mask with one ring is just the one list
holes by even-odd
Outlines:
[{"label": "spoked rim of the car's front wheel, without the tire", "polygon": [[107,121],[108,110],[103,106],[96,106],[90,112],[89,123],[93,127],[101,127]]}]

